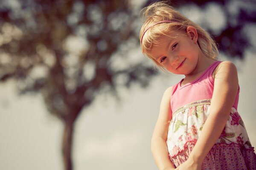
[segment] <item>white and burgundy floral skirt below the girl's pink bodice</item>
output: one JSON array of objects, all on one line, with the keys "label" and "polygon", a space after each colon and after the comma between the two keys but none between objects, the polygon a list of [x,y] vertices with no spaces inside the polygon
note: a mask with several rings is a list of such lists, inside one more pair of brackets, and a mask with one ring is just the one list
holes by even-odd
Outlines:
[{"label": "white and burgundy floral skirt below the girl's pink bodice", "polygon": [[[210,99],[184,105],[172,115],[167,147],[172,164],[178,167],[191,153],[210,110]],[[232,108],[218,140],[205,157],[203,170],[256,170],[256,154],[241,116]]]}]

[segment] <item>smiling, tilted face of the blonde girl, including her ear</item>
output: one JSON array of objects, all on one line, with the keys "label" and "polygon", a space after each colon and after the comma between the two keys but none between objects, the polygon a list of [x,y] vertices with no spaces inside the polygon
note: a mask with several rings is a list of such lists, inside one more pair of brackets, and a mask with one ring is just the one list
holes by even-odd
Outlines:
[{"label": "smiling, tilted face of the blonde girl, including her ear", "polygon": [[158,44],[152,46],[151,56],[174,74],[192,74],[200,54],[197,38],[197,31],[192,26],[186,31],[162,35],[158,38]]}]

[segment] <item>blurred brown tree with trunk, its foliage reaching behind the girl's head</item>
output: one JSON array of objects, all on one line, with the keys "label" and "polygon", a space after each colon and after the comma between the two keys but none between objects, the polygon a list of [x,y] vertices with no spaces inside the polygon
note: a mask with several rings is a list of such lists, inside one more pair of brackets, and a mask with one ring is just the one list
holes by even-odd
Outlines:
[{"label": "blurred brown tree with trunk, its foliage reaching behind the girl's head", "polygon": [[[145,0],[144,6],[151,2]],[[256,8],[239,8],[234,17],[225,10],[230,2],[215,0],[225,12],[227,26],[218,34],[209,31],[225,54],[242,58],[249,45],[242,31],[246,23],[255,23]],[[207,3],[193,1],[201,7]],[[180,0],[175,6],[189,4]],[[142,5],[135,0],[0,3],[0,82],[15,79],[20,94],[40,92],[49,113],[64,123],[65,170],[72,170],[73,128],[82,109],[99,93],[116,96],[116,88],[134,82],[145,87],[156,74],[147,62],[130,59],[139,47]]]}]

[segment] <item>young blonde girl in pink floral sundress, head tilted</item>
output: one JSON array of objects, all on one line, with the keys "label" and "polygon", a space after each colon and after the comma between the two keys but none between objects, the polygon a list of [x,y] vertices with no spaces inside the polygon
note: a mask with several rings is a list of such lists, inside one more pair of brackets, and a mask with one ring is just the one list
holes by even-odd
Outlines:
[{"label": "young blonde girl in pink floral sundress, head tilted", "polygon": [[160,170],[256,170],[256,155],[237,112],[239,84],[232,62],[217,61],[215,42],[166,3],[144,9],[143,54],[184,74],[168,88],[151,141]]}]

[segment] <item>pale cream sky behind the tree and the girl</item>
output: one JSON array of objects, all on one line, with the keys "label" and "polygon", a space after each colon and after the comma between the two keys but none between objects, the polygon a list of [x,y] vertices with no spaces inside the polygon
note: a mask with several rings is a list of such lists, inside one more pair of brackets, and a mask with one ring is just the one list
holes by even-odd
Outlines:
[{"label": "pale cream sky behind the tree and the girl", "polygon": [[[204,17],[215,31],[225,26],[225,18],[214,4],[206,6],[204,15],[196,7],[192,15],[186,7],[180,10],[199,24],[200,17]],[[215,14],[215,20],[210,20],[212,14]],[[255,28],[249,29],[249,33],[250,30]],[[255,38],[252,41],[256,42]],[[145,57],[141,58],[139,48],[136,51],[140,60],[148,61]],[[237,67],[240,85],[238,111],[250,141],[256,147],[256,113],[253,108],[256,57],[252,51],[247,51],[244,60],[222,55],[220,59],[231,60]],[[166,88],[182,78],[161,73],[151,80],[148,88],[138,85],[133,85],[131,89],[119,88],[121,100],[110,95],[99,95],[92,105],[82,111],[76,122],[74,170],[156,170],[150,142],[160,100]],[[63,170],[63,125],[48,113],[43,98],[39,94],[18,96],[13,81],[0,84],[0,94],[0,169]]]}]

